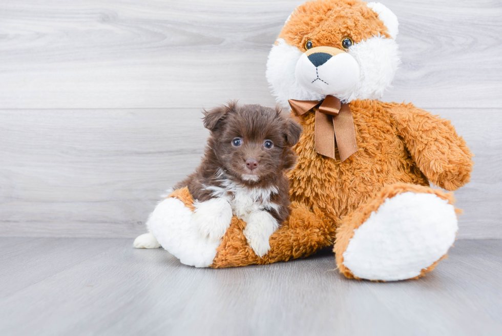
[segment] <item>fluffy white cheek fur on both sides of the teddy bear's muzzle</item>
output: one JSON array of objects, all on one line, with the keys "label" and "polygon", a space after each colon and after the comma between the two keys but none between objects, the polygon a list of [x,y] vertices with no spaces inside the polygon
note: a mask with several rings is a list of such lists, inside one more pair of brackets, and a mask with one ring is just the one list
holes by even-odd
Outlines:
[{"label": "fluffy white cheek fur on both sides of the teddy bear's muzzle", "polygon": [[[279,104],[288,107],[288,99],[322,100],[326,96],[322,86],[305,87],[297,81],[297,63],[303,53],[279,38],[268,54],[266,77]],[[390,87],[400,63],[398,45],[391,38],[373,36],[350,47],[348,54],[358,63],[360,71],[352,90],[337,93],[342,102],[356,99],[378,99]],[[336,57],[333,57],[333,61]],[[321,67],[334,65],[327,62]],[[319,67],[319,68],[321,68]],[[314,67],[315,68],[315,67]],[[329,71],[327,71],[329,72]]]}]

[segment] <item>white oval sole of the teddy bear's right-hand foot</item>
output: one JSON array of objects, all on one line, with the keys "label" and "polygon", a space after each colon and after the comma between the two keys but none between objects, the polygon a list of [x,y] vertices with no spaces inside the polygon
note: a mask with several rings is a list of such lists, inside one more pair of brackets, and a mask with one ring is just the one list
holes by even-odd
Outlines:
[{"label": "white oval sole of the teddy bear's right-hand foot", "polygon": [[448,252],[457,231],[455,208],[448,201],[404,192],[385,200],[354,230],[343,264],[361,279],[415,278]]}]

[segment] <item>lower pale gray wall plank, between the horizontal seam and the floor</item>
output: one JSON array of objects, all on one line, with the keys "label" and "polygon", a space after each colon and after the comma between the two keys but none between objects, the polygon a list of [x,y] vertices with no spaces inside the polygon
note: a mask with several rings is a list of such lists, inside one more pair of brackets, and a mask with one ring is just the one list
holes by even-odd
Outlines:
[{"label": "lower pale gray wall plank, between the horizontal seam and the floor", "polygon": [[[434,109],[474,157],[458,238],[502,238],[502,110]],[[197,109],[0,111],[0,235],[130,237],[200,162]],[[486,125],[490,125],[489,128]]]}]

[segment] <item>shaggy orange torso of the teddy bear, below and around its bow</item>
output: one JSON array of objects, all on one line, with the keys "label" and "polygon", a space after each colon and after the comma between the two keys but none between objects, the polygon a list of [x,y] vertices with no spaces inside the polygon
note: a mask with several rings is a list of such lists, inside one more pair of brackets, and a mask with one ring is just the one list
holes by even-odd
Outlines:
[{"label": "shaggy orange torso of the teddy bear, below and around its bow", "polygon": [[335,225],[385,185],[429,185],[392,125],[375,113],[357,112],[358,151],[343,163],[315,151],[313,113],[307,116],[302,121],[304,135],[295,148],[297,165],[289,173],[291,201],[320,209]]}]

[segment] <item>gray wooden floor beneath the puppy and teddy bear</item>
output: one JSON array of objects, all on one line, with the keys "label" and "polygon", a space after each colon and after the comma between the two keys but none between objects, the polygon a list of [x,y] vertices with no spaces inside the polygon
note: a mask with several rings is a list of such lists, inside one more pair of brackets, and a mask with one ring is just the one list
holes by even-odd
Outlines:
[{"label": "gray wooden floor beneath the puppy and teddy bear", "polygon": [[128,239],[0,238],[0,335],[500,335],[502,240],[425,278],[343,278],[325,252],[233,269]]}]

